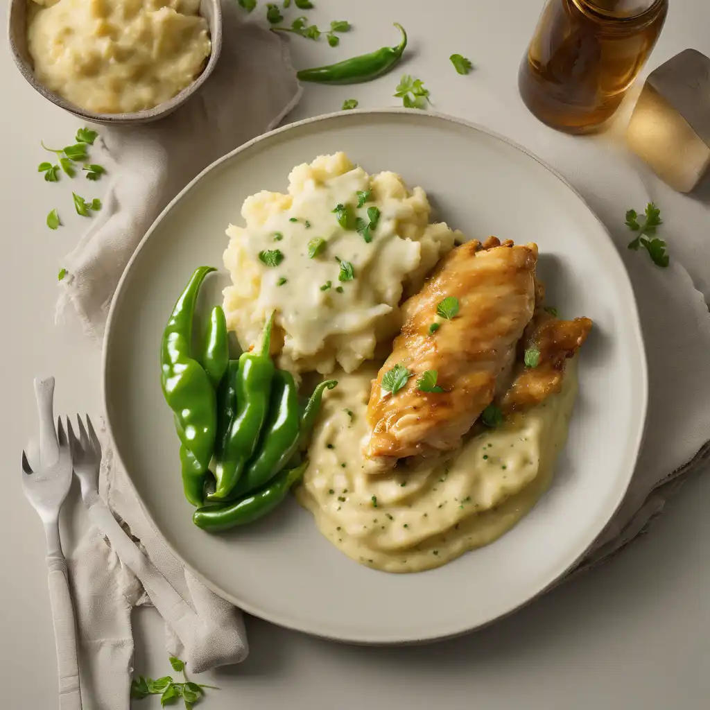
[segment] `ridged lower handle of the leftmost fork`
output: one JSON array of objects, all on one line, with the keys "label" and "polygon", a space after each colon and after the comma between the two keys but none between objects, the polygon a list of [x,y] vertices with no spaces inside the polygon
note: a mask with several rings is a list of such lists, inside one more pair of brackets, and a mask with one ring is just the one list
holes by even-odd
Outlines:
[{"label": "ridged lower handle of the leftmost fork", "polygon": [[60,710],[82,710],[77,661],[77,629],[67,577],[67,562],[60,555],[48,555],[47,567],[54,638],[57,645],[59,707]]}]

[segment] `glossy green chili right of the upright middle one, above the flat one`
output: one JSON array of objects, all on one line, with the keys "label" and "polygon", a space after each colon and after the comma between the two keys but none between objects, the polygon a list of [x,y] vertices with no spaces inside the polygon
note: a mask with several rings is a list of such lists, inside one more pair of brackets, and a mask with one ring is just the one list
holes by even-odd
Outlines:
[{"label": "glossy green chili right of the upright middle one, above the flat one", "polygon": [[290,372],[277,370],[271,387],[269,415],[261,431],[256,454],[246,464],[244,475],[229,498],[235,500],[271,481],[288,463],[298,446],[299,437],[298,388]]}]

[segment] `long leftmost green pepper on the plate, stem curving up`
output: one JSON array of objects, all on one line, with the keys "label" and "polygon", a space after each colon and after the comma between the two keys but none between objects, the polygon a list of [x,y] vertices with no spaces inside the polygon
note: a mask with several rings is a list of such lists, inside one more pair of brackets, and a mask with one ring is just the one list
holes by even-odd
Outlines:
[{"label": "long leftmost green pepper on the plate, stem curving up", "polygon": [[214,388],[202,365],[191,356],[197,294],[204,277],[212,271],[215,269],[210,266],[200,266],[192,274],[175,303],[160,346],[160,381],[165,401],[175,414],[175,427],[182,443],[185,497],[193,506],[202,503],[204,474],[212,459],[217,430]]}]

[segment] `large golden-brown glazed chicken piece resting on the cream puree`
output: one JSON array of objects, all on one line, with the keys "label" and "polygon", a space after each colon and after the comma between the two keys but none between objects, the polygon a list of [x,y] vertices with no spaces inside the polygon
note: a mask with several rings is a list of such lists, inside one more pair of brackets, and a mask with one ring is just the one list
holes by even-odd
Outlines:
[{"label": "large golden-brown glazed chicken piece resting on the cream puree", "polygon": [[[510,381],[515,347],[535,310],[536,263],[536,244],[471,241],[451,251],[405,302],[402,331],[372,386],[370,459],[392,466],[403,457],[459,446],[493,400],[498,381]],[[440,307],[444,299],[449,307]],[[435,332],[432,324],[439,326]],[[420,390],[427,371],[436,371],[441,390]]]}]

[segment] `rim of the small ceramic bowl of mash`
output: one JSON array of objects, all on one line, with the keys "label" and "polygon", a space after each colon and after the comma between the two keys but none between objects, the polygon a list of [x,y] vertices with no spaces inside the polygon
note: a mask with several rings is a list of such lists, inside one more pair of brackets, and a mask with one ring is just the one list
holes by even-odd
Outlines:
[{"label": "rim of the small ceramic bowl of mash", "polygon": [[[209,59],[207,60],[207,65],[204,67],[200,75],[198,75],[195,80],[188,84],[184,89],[182,89],[174,97],[164,101],[161,104],[153,107],[152,109],[142,109],[141,111],[127,111],[118,114],[104,114],[97,113],[96,111],[89,111],[88,109],[82,109],[82,107],[67,101],[64,97],[60,96],[56,92],[51,91],[45,86],[35,75],[33,67],[26,62],[23,58],[18,45],[15,41],[13,35],[14,24],[16,23],[16,13],[17,8],[21,4],[28,6],[28,3],[32,0],[10,0],[8,20],[7,20],[7,38],[8,45],[10,49],[10,54],[15,62],[15,66],[18,68],[21,75],[25,78],[26,82],[35,89],[40,96],[48,101],[52,102],[60,109],[69,111],[70,114],[74,114],[87,121],[93,121],[97,124],[111,125],[111,124],[143,124],[149,121],[155,121],[157,119],[163,118],[172,114],[173,111],[180,108],[187,99],[189,99],[192,94],[195,94],[198,89],[207,81],[209,76],[214,71],[214,67],[217,65],[217,60],[219,59],[219,53],[222,51],[222,4],[219,0],[200,0],[200,6],[202,3],[209,4],[212,6],[212,27],[209,28],[210,31],[210,53]],[[204,15],[201,14],[202,17]],[[205,17],[209,23],[209,18]],[[27,27],[24,28],[24,33],[27,33]]]}]

